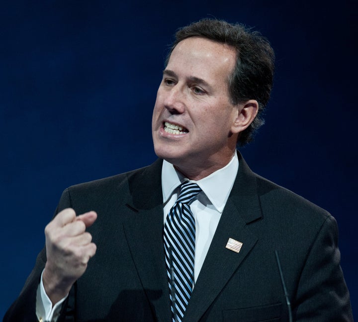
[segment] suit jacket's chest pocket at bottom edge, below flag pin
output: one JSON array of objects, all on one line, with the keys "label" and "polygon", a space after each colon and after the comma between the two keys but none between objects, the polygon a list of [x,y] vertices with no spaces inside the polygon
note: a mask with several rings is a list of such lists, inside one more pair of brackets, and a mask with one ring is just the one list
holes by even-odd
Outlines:
[{"label": "suit jacket's chest pocket at bottom edge, below flag pin", "polygon": [[238,310],[224,310],[223,321],[278,322],[281,321],[281,303]]}]

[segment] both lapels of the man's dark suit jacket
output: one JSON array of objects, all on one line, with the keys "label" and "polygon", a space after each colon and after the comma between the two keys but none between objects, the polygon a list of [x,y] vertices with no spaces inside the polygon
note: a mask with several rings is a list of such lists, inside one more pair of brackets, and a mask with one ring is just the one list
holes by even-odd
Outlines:
[{"label": "both lapels of the man's dark suit jacket", "polygon": [[[199,321],[257,242],[249,223],[262,217],[256,176],[239,156],[239,171],[196,281],[183,322]],[[128,178],[129,219],[124,231],[143,288],[159,321],[171,321],[163,247],[162,161]],[[225,246],[243,243],[239,253]]]}]

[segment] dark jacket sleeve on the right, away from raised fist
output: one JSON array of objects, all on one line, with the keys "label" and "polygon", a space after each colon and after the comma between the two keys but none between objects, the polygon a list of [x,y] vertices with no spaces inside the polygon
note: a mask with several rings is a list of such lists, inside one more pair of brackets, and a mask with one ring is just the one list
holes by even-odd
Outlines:
[{"label": "dark jacket sleeve on the right, away from raised fist", "polygon": [[311,246],[300,276],[293,316],[298,322],[353,322],[340,266],[338,227],[329,215]]}]

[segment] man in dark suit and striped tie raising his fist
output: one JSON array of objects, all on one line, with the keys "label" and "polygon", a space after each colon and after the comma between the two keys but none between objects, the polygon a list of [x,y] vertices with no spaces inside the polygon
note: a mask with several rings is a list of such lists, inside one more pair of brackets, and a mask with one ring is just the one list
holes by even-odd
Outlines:
[{"label": "man in dark suit and striped tie raising his fist", "polygon": [[335,219],[236,151],[272,78],[258,33],[180,29],[153,111],[159,160],[64,191],[4,321],[353,321]]}]

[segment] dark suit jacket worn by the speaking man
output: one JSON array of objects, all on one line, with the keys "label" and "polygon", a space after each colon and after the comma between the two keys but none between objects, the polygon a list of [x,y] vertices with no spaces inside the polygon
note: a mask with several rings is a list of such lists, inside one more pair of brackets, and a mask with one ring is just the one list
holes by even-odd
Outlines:
[{"label": "dark suit jacket worn by the speaking man", "polygon": [[[288,321],[275,250],[294,321],[353,321],[335,219],[254,174],[240,154],[239,162],[184,321]],[[158,160],[64,191],[57,212],[94,210],[98,218],[89,228],[96,255],[72,288],[62,321],[171,321],[161,167]],[[239,253],[225,248],[229,238],[243,243]],[[36,321],[36,289],[45,261],[43,250],[3,321]]]}]

